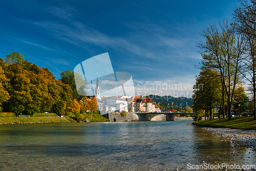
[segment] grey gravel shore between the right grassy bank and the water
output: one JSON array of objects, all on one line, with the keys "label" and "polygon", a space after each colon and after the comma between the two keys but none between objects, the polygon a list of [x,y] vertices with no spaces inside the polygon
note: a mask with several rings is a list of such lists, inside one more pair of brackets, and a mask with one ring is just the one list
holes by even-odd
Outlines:
[{"label": "grey gravel shore between the right grassy bank and the water", "polygon": [[229,139],[235,145],[245,145],[256,151],[256,131],[255,130],[236,130],[228,128],[203,127],[212,134],[217,134],[222,138]]}]

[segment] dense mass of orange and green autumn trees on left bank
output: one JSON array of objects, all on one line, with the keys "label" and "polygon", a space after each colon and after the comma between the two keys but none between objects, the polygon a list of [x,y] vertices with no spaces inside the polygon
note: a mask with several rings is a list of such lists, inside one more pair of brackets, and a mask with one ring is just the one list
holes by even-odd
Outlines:
[{"label": "dense mass of orange and green autumn trees on left bank", "polygon": [[39,68],[13,52],[5,60],[0,58],[0,98],[5,112],[59,113],[72,102],[73,92],[47,68]]}]

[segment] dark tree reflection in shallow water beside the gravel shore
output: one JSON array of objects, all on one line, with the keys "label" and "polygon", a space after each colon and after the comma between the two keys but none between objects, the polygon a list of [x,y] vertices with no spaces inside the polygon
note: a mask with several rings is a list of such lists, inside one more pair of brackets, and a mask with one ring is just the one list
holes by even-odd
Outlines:
[{"label": "dark tree reflection in shallow water beside the gravel shore", "polygon": [[[220,138],[203,129],[195,129],[194,131],[194,153],[196,154],[195,158],[198,159],[195,164],[236,164],[242,168],[243,165],[256,163],[255,152],[247,149],[246,146],[230,143],[228,139]],[[248,150],[250,151],[248,154],[253,157],[246,155]],[[247,156],[247,159],[245,159],[245,156]]]}]

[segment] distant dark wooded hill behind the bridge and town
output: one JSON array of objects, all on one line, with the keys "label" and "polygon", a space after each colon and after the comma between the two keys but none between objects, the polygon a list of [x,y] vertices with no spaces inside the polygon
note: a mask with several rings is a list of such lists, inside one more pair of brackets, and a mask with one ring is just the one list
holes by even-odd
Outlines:
[{"label": "distant dark wooded hill behind the bridge and town", "polygon": [[173,96],[157,96],[157,95],[149,95],[146,97],[151,97],[154,101],[156,101],[156,103],[160,102],[160,105],[164,105],[167,106],[168,104],[170,104],[170,106],[172,106],[172,103],[174,102],[174,106],[175,105],[180,105],[180,103],[182,103],[182,106],[186,106],[186,102],[187,105],[190,106],[192,108],[192,104],[193,104],[193,99],[192,98],[186,98],[186,97],[173,97]]}]

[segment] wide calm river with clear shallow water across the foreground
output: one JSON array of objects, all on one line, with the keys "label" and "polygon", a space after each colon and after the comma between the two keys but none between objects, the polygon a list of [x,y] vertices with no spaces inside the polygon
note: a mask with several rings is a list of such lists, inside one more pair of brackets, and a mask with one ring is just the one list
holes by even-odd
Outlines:
[{"label": "wide calm river with clear shallow water across the foreground", "polygon": [[[189,170],[255,164],[245,146],[191,121],[0,125],[3,170]],[[206,168],[201,170],[207,170]]]}]

